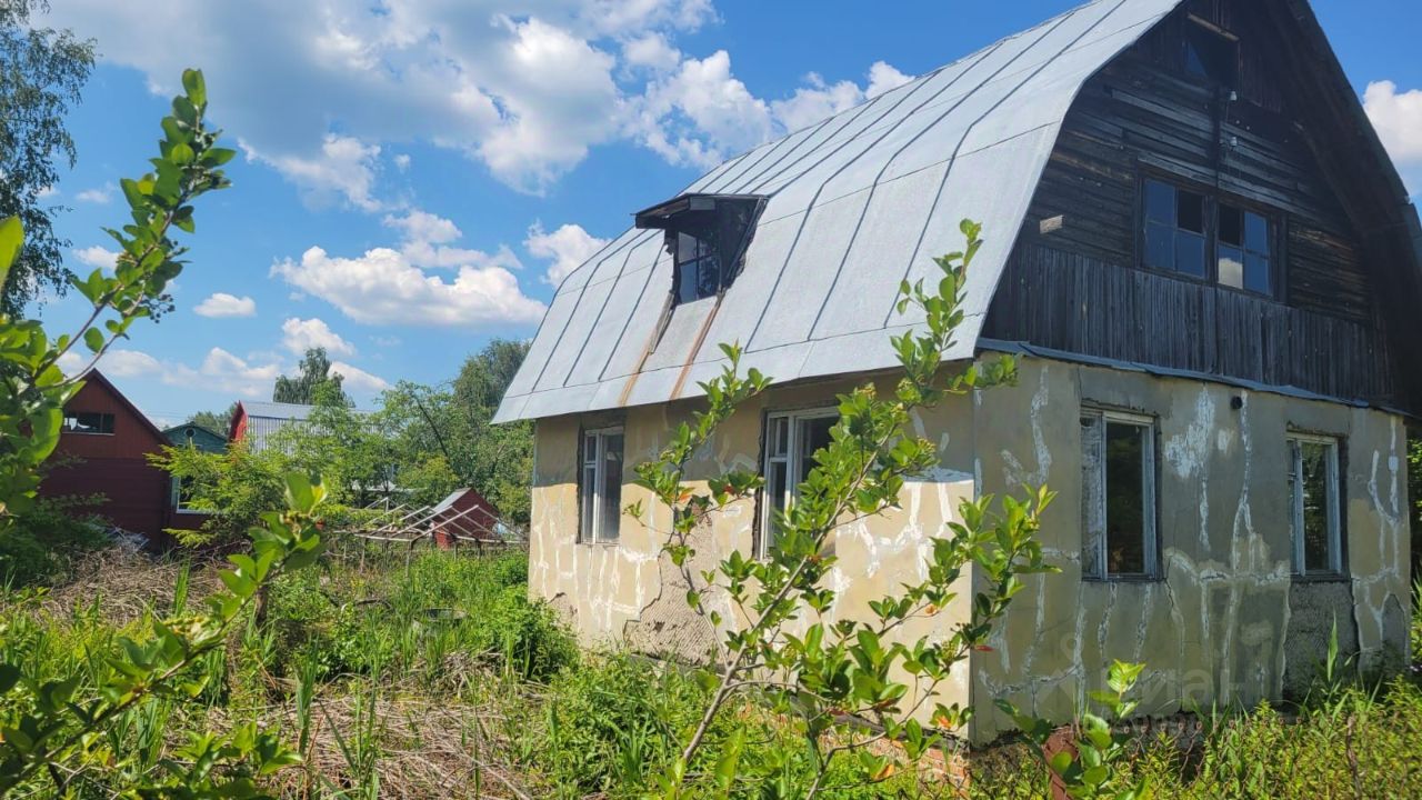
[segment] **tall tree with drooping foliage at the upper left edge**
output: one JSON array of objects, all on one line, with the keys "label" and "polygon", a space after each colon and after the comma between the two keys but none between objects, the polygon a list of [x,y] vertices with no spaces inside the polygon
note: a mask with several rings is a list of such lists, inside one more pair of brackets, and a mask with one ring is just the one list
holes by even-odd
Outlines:
[{"label": "tall tree with drooping foliage at the upper left edge", "polygon": [[[74,167],[74,140],[64,121],[94,68],[94,43],[70,31],[36,27],[44,0],[0,3],[0,219],[16,216],[28,232],[9,278],[0,269],[0,313],[18,316],[43,290],[63,292],[68,242],[54,233],[65,211],[47,205],[60,164]],[[9,262],[7,262],[9,263]]]}]

